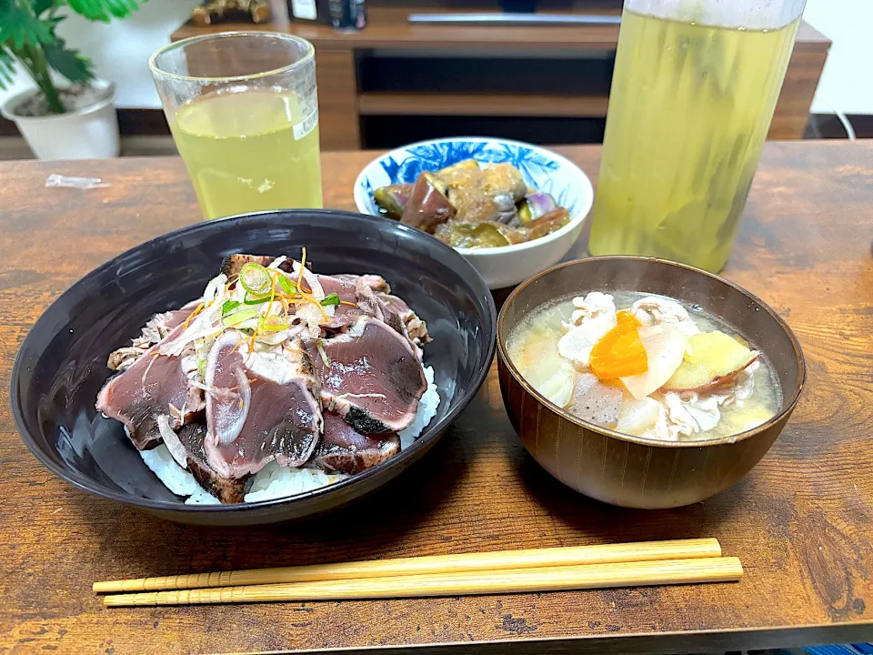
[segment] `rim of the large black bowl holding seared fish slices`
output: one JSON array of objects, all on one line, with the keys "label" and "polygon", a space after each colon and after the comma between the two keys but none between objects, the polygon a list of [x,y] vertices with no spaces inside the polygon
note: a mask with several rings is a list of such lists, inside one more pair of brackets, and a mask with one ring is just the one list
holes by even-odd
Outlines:
[{"label": "rim of the large black bowl holding seared fish slices", "polygon": [[[497,329],[492,328],[492,338],[491,342],[486,348],[485,361],[487,361],[487,365],[479,370],[473,378],[474,384],[471,385],[467,392],[458,398],[454,398],[451,402],[448,403],[448,411],[445,417],[443,417],[439,421],[431,420],[424,429],[422,429],[421,434],[418,435],[413,444],[406,448],[405,450],[401,450],[395,457],[387,459],[385,462],[377,464],[375,467],[371,469],[366,469],[361,473],[358,473],[354,476],[350,476],[348,479],[341,480],[331,485],[327,485],[326,487],[321,487],[319,489],[310,489],[309,491],[305,491],[300,494],[296,494],[294,496],[287,496],[285,498],[279,499],[265,499],[265,500],[256,500],[255,502],[241,502],[234,504],[220,504],[220,505],[202,505],[202,504],[191,504],[188,505],[185,502],[171,501],[171,500],[162,500],[162,499],[146,499],[137,496],[133,496],[131,494],[127,494],[124,491],[115,491],[114,489],[104,488],[102,485],[99,489],[95,488],[94,480],[85,476],[84,474],[76,471],[74,469],[69,469],[61,464],[55,462],[54,459],[49,457],[47,454],[43,452],[41,448],[39,448],[36,439],[30,434],[30,431],[26,428],[24,410],[21,406],[20,397],[17,393],[18,381],[21,378],[22,368],[25,366],[25,362],[22,358],[22,353],[25,350],[25,346],[27,345],[28,339],[31,338],[31,335],[34,332],[34,328],[39,324],[40,321],[45,320],[45,316],[49,315],[52,308],[55,307],[56,304],[60,303],[64,297],[71,292],[74,287],[79,286],[89,278],[96,277],[99,273],[104,272],[106,269],[115,266],[115,262],[121,258],[125,257],[129,253],[134,250],[138,250],[144,247],[159,247],[161,244],[166,241],[176,239],[178,237],[184,237],[188,233],[196,231],[198,228],[202,228],[205,226],[222,224],[226,222],[245,222],[246,219],[256,218],[256,217],[265,217],[276,214],[296,214],[297,212],[305,212],[306,214],[318,214],[323,215],[325,217],[331,216],[343,216],[343,217],[351,217],[357,220],[369,220],[369,221],[377,221],[385,223],[386,225],[391,225],[392,227],[400,228],[402,231],[408,231],[410,233],[415,233],[416,235],[424,235],[427,237],[429,242],[433,242],[432,245],[437,248],[445,248],[450,251],[453,256],[458,256],[457,250],[455,248],[448,246],[447,244],[439,241],[439,239],[435,239],[433,237],[429,237],[421,230],[417,230],[414,227],[409,227],[397,223],[394,220],[385,217],[374,217],[369,214],[360,214],[352,211],[346,211],[343,209],[272,209],[266,211],[259,212],[250,212],[247,214],[237,214],[235,216],[230,217],[221,217],[216,218],[209,221],[198,221],[192,225],[180,227],[178,229],[172,230],[170,232],[166,232],[165,234],[159,235],[157,237],[148,239],[143,243],[137,244],[134,247],[127,248],[125,251],[119,253],[115,257],[112,257],[108,261],[104,262],[98,267],[93,268],[89,272],[87,272],[83,277],[80,277],[76,280],[70,287],[67,287],[63,293],[61,293],[58,297],[55,298],[36,318],[33,326],[28,330],[27,335],[22,340],[21,346],[18,348],[18,352],[15,354],[15,363],[12,367],[12,372],[9,380],[9,398],[10,398],[10,406],[12,409],[12,417],[15,424],[15,430],[18,432],[19,437],[21,437],[22,441],[25,442],[25,446],[28,450],[30,450],[31,454],[43,465],[46,469],[49,469],[52,473],[54,473],[58,478],[64,480],[65,482],[73,485],[77,489],[82,489],[90,494],[93,494],[102,499],[115,500],[115,502],[120,502],[124,505],[128,505],[135,508],[142,509],[152,509],[152,510],[161,510],[168,512],[179,512],[179,513],[187,513],[187,512],[197,512],[201,514],[219,514],[219,513],[228,513],[228,512],[243,512],[243,511],[252,511],[252,510],[264,510],[267,508],[275,508],[280,505],[290,504],[296,501],[304,500],[304,499],[312,499],[317,498],[319,496],[325,496],[328,493],[336,493],[337,490],[347,489],[353,487],[355,485],[360,485],[364,480],[376,475],[377,472],[386,468],[386,464],[389,462],[397,463],[402,461],[402,459],[411,459],[414,457],[414,454],[417,450],[424,448],[426,443],[438,438],[458,417],[458,415],[467,408],[470,402],[475,398],[479,389],[485,383],[488,372],[491,369],[491,365],[494,362],[494,354],[495,349],[497,347]],[[463,257],[461,257],[464,259]],[[464,259],[463,266],[469,267],[469,273],[471,274],[474,280],[478,281],[478,284],[484,290],[483,297],[485,298],[485,306],[486,313],[488,317],[491,317],[491,325],[495,325],[496,317],[497,317],[497,307],[494,303],[494,297],[491,295],[490,290],[488,289],[487,283],[485,279],[478,273],[475,267],[470,264],[466,259]],[[487,326],[486,326],[487,328]],[[454,403],[454,405],[453,405]]]}]

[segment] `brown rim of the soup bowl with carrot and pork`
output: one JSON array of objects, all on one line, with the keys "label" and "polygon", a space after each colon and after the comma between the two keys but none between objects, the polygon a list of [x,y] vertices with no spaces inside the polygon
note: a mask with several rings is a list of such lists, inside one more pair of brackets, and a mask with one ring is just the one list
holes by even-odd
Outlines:
[{"label": "brown rim of the soup bowl with carrot and pork", "polygon": [[[512,358],[509,357],[509,353],[507,352],[506,345],[506,314],[507,308],[511,307],[512,304],[517,300],[517,297],[531,285],[534,281],[539,279],[540,277],[547,276],[551,273],[554,273],[557,270],[565,267],[577,266],[583,262],[590,261],[605,261],[605,260],[619,260],[619,261],[642,261],[642,262],[651,262],[656,264],[663,264],[667,267],[676,267],[682,268],[691,273],[702,274],[707,277],[710,277],[717,282],[720,282],[728,287],[732,287],[741,293],[743,296],[752,300],[753,302],[758,303],[760,307],[762,307],[773,320],[776,321],[777,325],[782,328],[782,331],[788,337],[788,340],[791,342],[792,348],[794,348],[795,355],[797,357],[798,364],[798,383],[792,392],[790,399],[785,399],[785,394],[783,392],[783,401],[782,407],[778,410],[776,414],[774,414],[771,418],[768,418],[767,421],[762,423],[761,425],[745,430],[743,432],[739,432],[735,435],[730,435],[728,437],[719,437],[719,438],[711,438],[711,439],[700,439],[700,440],[692,440],[692,441],[667,441],[662,439],[653,439],[653,438],[645,438],[645,437],[636,437],[634,435],[628,435],[623,432],[618,432],[617,430],[604,428],[602,426],[598,426],[595,423],[591,423],[590,421],[585,420],[584,418],[578,418],[574,416],[570,412],[568,412],[564,408],[558,407],[551,400],[540,394],[532,385],[530,385],[527,380],[521,375],[521,373],[516,368],[516,365],[512,362]],[[538,305],[537,307],[541,307]],[[765,353],[766,355],[766,353]],[[752,438],[761,432],[768,430],[774,425],[778,424],[780,420],[786,418],[794,408],[798,404],[798,399],[800,398],[800,392],[803,390],[804,384],[806,383],[807,377],[807,366],[806,360],[803,357],[803,350],[800,348],[800,342],[798,341],[797,336],[788,327],[788,323],[778,315],[776,310],[770,307],[766,302],[761,300],[759,297],[755,296],[755,294],[751,293],[747,289],[740,287],[735,282],[731,282],[725,277],[718,276],[714,273],[710,273],[709,271],[703,270],[702,268],[688,266],[687,264],[680,264],[678,262],[670,261],[669,259],[662,259],[660,257],[638,257],[632,255],[609,255],[602,257],[580,257],[578,259],[573,259],[571,261],[562,262],[557,264],[554,267],[547,268],[542,273],[538,273],[534,277],[530,277],[526,281],[522,282],[515,289],[513,289],[512,293],[507,297],[506,302],[504,302],[503,307],[500,309],[500,313],[497,316],[497,358],[504,366],[506,366],[509,373],[515,378],[516,382],[525,390],[528,394],[533,396],[538,403],[544,405],[549,411],[557,414],[560,418],[564,418],[571,423],[575,423],[580,428],[586,428],[593,432],[597,432],[598,434],[616,438],[619,441],[627,441],[630,443],[634,443],[640,446],[647,447],[655,447],[655,448],[701,448],[704,446],[724,446],[728,444],[736,444],[741,441],[745,441],[748,438]]]}]

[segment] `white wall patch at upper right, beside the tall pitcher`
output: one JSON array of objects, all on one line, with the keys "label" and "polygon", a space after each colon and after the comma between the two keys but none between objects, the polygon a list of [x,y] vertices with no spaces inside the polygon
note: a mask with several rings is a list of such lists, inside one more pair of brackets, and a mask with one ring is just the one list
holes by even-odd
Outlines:
[{"label": "white wall patch at upper right, beside the tall pitcher", "polygon": [[873,0],[807,0],[803,17],[834,43],[812,111],[873,114]]}]

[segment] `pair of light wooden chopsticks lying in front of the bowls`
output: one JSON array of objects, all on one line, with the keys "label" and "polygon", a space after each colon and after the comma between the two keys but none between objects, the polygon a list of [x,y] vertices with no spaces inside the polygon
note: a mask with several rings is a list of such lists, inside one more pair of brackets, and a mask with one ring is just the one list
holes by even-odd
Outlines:
[{"label": "pair of light wooden chopsticks lying in front of the bowls", "polygon": [[[717,539],[501,550],[95,582],[106,607],[364,600],[733,582]],[[117,593],[121,592],[121,593]],[[131,593],[134,592],[134,593]]]}]

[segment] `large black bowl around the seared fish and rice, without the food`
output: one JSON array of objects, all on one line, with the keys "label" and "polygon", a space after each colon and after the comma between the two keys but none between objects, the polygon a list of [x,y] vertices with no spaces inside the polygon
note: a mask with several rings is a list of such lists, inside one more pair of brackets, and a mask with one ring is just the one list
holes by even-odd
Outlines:
[{"label": "large black bowl around the seared fish and rice, without the food", "polygon": [[[186,505],[146,468],[120,423],[94,408],[106,356],[157,311],[198,297],[235,252],[294,256],[305,246],[320,273],[376,273],[427,322],[425,363],[440,405],[415,445],[380,466],[289,499]],[[172,232],[89,273],[39,317],[12,373],[15,426],[37,459],[70,484],[165,519],[251,525],[299,519],[358,499],[420,459],[467,407],[495,346],[496,311],[482,277],[436,238],[379,217],[276,211]]]}]

